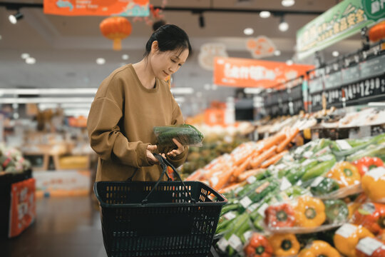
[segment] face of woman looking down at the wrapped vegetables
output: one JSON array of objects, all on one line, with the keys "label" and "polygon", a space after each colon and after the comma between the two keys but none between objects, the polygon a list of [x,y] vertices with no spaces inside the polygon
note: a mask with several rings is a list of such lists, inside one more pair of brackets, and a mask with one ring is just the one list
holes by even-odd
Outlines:
[{"label": "face of woman looking down at the wrapped vegetables", "polygon": [[150,57],[151,66],[155,77],[165,80],[168,76],[175,74],[188,59],[188,49],[161,52],[158,50],[158,42],[156,44],[155,42],[153,42],[153,54]]}]

